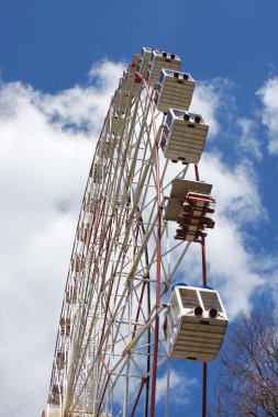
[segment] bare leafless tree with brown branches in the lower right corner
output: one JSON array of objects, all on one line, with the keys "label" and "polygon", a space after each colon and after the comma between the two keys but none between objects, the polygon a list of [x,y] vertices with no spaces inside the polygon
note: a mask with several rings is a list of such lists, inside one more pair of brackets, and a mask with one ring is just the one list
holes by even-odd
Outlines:
[{"label": "bare leafless tree with brown branches in the lower right corner", "polygon": [[210,417],[278,417],[278,312],[242,313],[214,387]]}]

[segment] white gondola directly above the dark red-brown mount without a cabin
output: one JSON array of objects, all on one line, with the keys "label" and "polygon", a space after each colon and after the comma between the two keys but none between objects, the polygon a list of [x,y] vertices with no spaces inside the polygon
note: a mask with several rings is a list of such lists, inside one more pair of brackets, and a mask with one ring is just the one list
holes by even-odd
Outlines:
[{"label": "white gondola directly above the dark red-brown mount without a cabin", "polygon": [[165,158],[185,164],[198,164],[208,132],[209,126],[200,114],[170,109],[162,137]]}]

